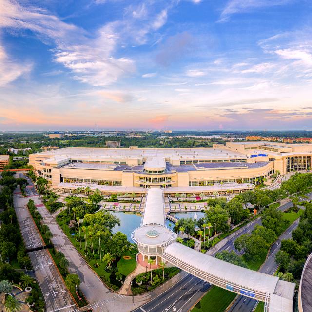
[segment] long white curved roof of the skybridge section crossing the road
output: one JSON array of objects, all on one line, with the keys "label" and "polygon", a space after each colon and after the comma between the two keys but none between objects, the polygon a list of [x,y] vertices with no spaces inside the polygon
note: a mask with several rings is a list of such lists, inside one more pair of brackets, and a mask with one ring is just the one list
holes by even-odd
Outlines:
[{"label": "long white curved roof of the skybridge section crossing the road", "polygon": [[239,267],[210,255],[199,253],[180,243],[169,245],[164,254],[175,257],[191,267],[195,267],[195,269],[222,278],[230,284],[238,284],[254,291],[273,294],[278,281],[276,276]]}]

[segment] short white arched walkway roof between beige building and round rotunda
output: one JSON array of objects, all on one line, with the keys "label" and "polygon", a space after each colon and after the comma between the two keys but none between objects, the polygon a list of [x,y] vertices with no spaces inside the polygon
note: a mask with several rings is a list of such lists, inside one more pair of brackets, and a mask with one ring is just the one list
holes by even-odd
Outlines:
[{"label": "short white arched walkway roof between beige building and round rotunda", "polygon": [[146,195],[142,225],[159,224],[166,226],[162,190],[151,188]]}]

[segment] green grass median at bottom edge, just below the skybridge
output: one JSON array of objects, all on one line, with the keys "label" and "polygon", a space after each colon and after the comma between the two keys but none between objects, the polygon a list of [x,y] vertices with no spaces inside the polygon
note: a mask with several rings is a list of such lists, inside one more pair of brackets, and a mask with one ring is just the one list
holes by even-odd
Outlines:
[{"label": "green grass median at bottom edge, just below the skybridge", "polygon": [[192,312],[223,312],[235,297],[236,293],[213,286],[195,305]]}]

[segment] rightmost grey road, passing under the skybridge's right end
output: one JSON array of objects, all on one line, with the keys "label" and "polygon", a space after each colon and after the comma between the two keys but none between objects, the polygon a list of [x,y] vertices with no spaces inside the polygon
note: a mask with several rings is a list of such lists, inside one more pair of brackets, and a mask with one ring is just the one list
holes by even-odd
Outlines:
[{"label": "rightmost grey road, passing under the skybridge's right end", "polygon": [[[276,242],[270,249],[269,256],[264,262],[259,272],[273,275],[278,269],[278,264],[275,262],[275,255],[280,250],[281,241],[283,239],[289,239],[292,237],[292,231],[297,228],[299,219],[292,223],[292,225],[279,236]],[[237,296],[233,301],[232,306],[227,310],[228,312],[251,312],[254,311],[255,306],[258,304],[257,300],[245,297]]]}]

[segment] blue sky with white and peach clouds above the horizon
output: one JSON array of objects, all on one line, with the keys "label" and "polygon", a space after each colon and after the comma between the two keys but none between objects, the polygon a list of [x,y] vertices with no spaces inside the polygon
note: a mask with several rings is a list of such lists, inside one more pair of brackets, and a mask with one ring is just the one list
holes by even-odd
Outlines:
[{"label": "blue sky with white and peach clouds above the horizon", "polygon": [[312,130],[310,0],[0,0],[0,130]]}]

